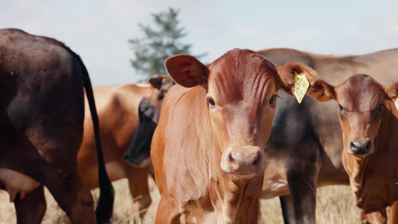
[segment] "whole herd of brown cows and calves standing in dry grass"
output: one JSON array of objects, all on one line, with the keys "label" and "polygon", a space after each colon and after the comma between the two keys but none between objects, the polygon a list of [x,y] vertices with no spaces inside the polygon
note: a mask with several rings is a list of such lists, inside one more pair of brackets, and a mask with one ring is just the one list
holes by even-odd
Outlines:
[{"label": "whole herd of brown cows and calves standing in dry grass", "polygon": [[398,223],[398,48],[164,65],[169,76],[92,88],[63,43],[0,30],[0,189],[18,223],[41,222],[44,186],[72,223],[107,223],[122,178],[145,210],[148,175],[158,224],[256,224],[259,199],[275,196],[285,223],[314,224],[325,185],[350,185],[367,223],[386,223],[388,206]]}]

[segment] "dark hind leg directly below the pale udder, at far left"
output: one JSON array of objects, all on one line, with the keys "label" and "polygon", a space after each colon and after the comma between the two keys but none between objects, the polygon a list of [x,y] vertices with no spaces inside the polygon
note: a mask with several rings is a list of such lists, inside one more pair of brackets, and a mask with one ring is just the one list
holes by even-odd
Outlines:
[{"label": "dark hind leg directly below the pale udder, at far left", "polygon": [[43,185],[40,185],[36,190],[25,195],[22,199],[20,194],[17,195],[14,200],[14,205],[18,224],[41,223],[47,208]]}]

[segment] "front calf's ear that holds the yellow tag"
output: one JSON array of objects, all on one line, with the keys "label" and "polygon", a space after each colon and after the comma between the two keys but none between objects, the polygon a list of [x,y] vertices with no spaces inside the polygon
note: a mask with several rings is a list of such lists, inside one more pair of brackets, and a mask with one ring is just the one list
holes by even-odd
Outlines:
[{"label": "front calf's ear that holds the yellow tag", "polygon": [[316,71],[301,63],[291,62],[277,67],[278,79],[277,86],[283,88],[287,93],[293,95],[295,91],[295,72],[298,75],[305,75],[310,85],[313,85],[318,79]]}]

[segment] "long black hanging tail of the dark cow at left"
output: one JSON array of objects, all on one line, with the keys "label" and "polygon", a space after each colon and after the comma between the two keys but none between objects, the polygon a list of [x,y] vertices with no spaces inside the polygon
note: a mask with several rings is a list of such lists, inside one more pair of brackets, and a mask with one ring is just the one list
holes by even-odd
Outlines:
[{"label": "long black hanging tail of the dark cow at left", "polygon": [[96,138],[96,145],[97,145],[98,179],[100,184],[100,200],[98,200],[98,205],[96,208],[97,223],[105,224],[109,222],[113,213],[113,201],[115,193],[105,169],[105,161],[103,158],[103,152],[101,146],[100,124],[98,122],[98,114],[97,114],[96,104],[94,102],[93,89],[91,86],[90,77],[88,76],[88,71],[86,69],[86,66],[84,66],[80,56],[74,53],[66,45],[62,44],[62,47],[64,47],[79,61],[80,67],[82,68],[83,71],[83,84],[84,88],[86,88],[86,95],[88,99],[88,104],[90,106],[91,117],[94,124],[94,135]]}]

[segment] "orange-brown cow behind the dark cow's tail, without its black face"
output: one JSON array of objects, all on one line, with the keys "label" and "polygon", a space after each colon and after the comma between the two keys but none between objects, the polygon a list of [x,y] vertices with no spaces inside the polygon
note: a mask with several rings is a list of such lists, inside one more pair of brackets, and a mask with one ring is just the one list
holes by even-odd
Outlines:
[{"label": "orange-brown cow behind the dark cow's tail, without its black face", "polygon": [[[134,201],[136,214],[138,214],[137,211],[148,208],[151,203],[147,179],[149,172],[152,171],[152,166],[150,166],[150,161],[141,161],[130,166],[125,161],[124,153],[142,123],[139,121],[139,110],[142,110],[142,106],[139,108],[139,105],[142,102],[150,102],[153,105],[151,111],[153,114],[157,114],[155,119],[158,119],[160,106],[164,95],[171,87],[170,83],[172,81],[169,77],[154,75],[148,80],[148,83],[144,84],[94,88],[107,173],[111,181],[121,178],[129,180],[131,196],[137,198]],[[88,106],[87,98],[86,106]],[[87,111],[84,117],[83,142],[78,154],[78,167],[80,175],[89,189],[98,187],[98,163],[95,159],[97,152],[94,137],[91,114]],[[135,149],[148,148],[146,150],[149,151],[152,135],[143,137],[146,138],[141,139],[142,143]],[[145,212],[140,212],[141,218],[144,214]]]}]

